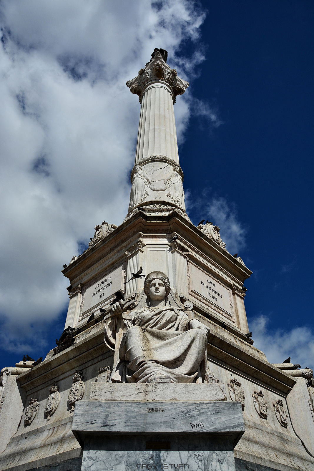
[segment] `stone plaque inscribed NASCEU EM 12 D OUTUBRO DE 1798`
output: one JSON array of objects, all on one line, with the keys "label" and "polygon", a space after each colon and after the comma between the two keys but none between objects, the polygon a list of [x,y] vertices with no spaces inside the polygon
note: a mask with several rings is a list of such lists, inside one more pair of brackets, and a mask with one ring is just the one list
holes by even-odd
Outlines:
[{"label": "stone plaque inscribed NASCEU EM 12 D OUTUBRO DE 1798", "polygon": [[[233,318],[232,292],[200,268],[189,263],[190,294],[205,304],[216,306],[218,312]],[[220,309],[219,309],[220,308]]]}]

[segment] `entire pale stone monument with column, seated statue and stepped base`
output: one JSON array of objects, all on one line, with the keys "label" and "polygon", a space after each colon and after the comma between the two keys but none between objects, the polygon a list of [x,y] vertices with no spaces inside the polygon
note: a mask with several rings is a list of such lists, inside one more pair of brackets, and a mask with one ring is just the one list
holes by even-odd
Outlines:
[{"label": "entire pale stone monument with column, seated statue and stepped base", "polygon": [[[129,212],[64,265],[64,332],[1,370],[0,471],[314,469],[313,371],[253,346],[251,271],[185,212],[174,103],[188,83],[155,49]],[[32,361],[31,361],[32,360]]]}]

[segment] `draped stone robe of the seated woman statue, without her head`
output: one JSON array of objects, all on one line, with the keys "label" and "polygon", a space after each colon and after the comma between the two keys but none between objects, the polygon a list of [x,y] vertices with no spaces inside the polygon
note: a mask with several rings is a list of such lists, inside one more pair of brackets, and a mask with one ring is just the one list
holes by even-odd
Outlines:
[{"label": "draped stone robe of the seated woman statue, without her head", "polygon": [[[184,311],[172,306],[142,308],[130,313],[131,321],[123,335],[119,358],[111,382],[192,383],[206,372],[207,336],[191,329]],[[106,328],[106,337],[115,336],[114,322]],[[156,381],[157,378],[157,381]],[[162,382],[162,381],[161,381]]]}]

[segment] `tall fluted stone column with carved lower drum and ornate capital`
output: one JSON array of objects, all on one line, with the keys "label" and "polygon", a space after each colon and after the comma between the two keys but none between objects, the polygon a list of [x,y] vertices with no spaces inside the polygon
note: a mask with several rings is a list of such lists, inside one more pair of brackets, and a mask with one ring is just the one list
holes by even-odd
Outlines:
[{"label": "tall fluted stone column with carved lower drum and ornate capital", "polygon": [[165,212],[173,207],[187,217],[173,105],[177,95],[182,95],[189,84],[177,77],[176,70],[170,69],[165,52],[155,49],[145,69],[127,82],[141,103],[127,218],[138,208]]}]

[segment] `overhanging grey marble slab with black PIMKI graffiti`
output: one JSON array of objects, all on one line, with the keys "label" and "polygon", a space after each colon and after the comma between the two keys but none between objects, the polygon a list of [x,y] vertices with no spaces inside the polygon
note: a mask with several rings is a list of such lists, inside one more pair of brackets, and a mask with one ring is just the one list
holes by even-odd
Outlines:
[{"label": "overhanging grey marble slab with black PIMKI graffiti", "polygon": [[97,433],[225,434],[236,442],[244,432],[238,402],[81,401],[72,431],[80,439]]}]

